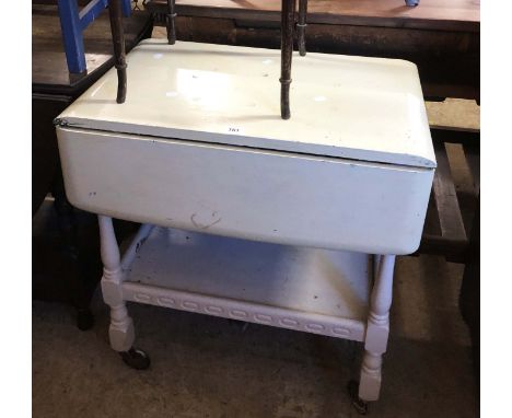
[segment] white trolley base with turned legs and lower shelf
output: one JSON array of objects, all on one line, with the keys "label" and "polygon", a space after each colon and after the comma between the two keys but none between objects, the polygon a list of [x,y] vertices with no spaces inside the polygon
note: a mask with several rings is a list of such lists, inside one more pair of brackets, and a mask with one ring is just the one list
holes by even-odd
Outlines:
[{"label": "white trolley base with turned legs and lower shelf", "polygon": [[[144,224],[119,259],[100,216],[110,345],[135,334],[125,301],[364,342],[359,396],[376,400],[389,334],[394,255],[369,256]],[[123,266],[123,268],[120,268]]]}]

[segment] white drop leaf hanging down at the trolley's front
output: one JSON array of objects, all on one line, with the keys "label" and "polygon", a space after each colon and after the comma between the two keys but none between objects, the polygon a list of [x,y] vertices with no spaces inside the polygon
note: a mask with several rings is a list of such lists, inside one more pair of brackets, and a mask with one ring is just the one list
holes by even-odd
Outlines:
[{"label": "white drop leaf hanging down at the trolley's front", "polygon": [[212,234],[409,254],[433,171],[59,128],[75,207]]}]

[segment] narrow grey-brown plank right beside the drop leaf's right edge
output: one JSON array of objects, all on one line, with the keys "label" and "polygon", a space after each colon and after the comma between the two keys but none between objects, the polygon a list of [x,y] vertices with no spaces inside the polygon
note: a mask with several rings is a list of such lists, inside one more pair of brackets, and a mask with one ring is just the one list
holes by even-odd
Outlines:
[{"label": "narrow grey-brown plank right beside the drop leaf's right edge", "polygon": [[444,143],[434,143],[438,169],[433,181],[435,206],[443,239],[466,241],[466,232],[461,216],[457,194],[453,184],[450,162]]}]

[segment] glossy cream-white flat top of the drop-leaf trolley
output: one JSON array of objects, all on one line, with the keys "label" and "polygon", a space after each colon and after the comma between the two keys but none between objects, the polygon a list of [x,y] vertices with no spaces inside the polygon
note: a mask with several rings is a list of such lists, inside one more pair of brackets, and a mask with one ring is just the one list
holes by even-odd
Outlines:
[{"label": "glossy cream-white flat top of the drop-leaf trolley", "polygon": [[59,118],[98,129],[434,167],[414,63],[294,54],[291,119],[280,118],[280,51],[147,39],[128,60],[128,94],[115,102],[108,71]]}]

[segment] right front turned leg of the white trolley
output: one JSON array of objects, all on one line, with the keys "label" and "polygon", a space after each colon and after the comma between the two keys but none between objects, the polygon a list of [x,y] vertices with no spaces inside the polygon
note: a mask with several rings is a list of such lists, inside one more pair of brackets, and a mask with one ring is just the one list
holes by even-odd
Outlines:
[{"label": "right front turned leg of the white trolley", "polygon": [[379,256],[377,260],[359,382],[359,397],[364,402],[379,398],[382,355],[386,351],[389,335],[389,307],[393,294],[395,256],[383,255]]}]

